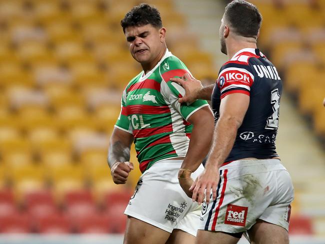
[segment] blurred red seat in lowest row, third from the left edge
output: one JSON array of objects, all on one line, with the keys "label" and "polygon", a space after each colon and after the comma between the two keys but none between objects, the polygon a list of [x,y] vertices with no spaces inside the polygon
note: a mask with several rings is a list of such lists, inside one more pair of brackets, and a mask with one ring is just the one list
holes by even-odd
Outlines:
[{"label": "blurred red seat in lowest row, third from the left edge", "polygon": [[108,233],[110,230],[109,217],[100,213],[88,214],[77,223],[76,229],[80,233]]}]

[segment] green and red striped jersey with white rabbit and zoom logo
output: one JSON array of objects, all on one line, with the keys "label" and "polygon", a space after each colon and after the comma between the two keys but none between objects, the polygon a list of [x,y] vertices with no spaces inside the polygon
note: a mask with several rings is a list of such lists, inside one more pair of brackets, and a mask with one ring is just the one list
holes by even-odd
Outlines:
[{"label": "green and red striped jersey with white rabbit and zoom logo", "polygon": [[121,99],[121,112],[115,127],[131,133],[141,172],[158,160],[185,156],[192,125],[189,116],[205,100],[180,104],[184,89],[171,77],[188,72],[186,66],[168,50],[149,72],[140,72],[128,83]]}]

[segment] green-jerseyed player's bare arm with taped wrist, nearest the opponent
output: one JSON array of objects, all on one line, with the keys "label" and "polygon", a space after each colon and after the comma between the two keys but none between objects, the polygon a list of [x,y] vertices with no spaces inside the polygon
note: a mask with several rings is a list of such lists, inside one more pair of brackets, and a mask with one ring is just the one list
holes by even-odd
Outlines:
[{"label": "green-jerseyed player's bare arm with taped wrist, nearest the opponent", "polygon": [[205,106],[194,112],[188,121],[193,124],[193,130],[186,156],[178,172],[178,180],[185,193],[192,197],[192,192],[189,191],[193,183],[190,174],[198,168],[209,150],[212,139],[210,131],[214,127],[214,118],[210,107]]}]

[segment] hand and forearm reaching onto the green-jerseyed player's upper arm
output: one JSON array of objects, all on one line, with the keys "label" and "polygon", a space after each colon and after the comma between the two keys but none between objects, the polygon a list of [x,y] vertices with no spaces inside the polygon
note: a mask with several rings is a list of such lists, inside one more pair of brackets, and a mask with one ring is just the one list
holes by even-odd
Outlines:
[{"label": "hand and forearm reaching onto the green-jerseyed player's upper arm", "polygon": [[191,103],[196,99],[211,100],[214,84],[202,86],[201,81],[185,73],[182,78],[170,78],[185,89],[185,95],[178,99],[180,103]]}]

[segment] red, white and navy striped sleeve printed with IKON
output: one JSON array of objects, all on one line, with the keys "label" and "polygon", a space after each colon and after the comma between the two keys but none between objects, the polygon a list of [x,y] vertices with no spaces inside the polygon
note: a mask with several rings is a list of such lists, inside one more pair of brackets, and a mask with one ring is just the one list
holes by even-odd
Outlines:
[{"label": "red, white and navy striped sleeve printed with IKON", "polygon": [[238,65],[231,62],[227,63],[221,68],[217,79],[220,97],[222,99],[231,93],[250,95],[250,87],[253,82],[254,75],[248,65]]}]

